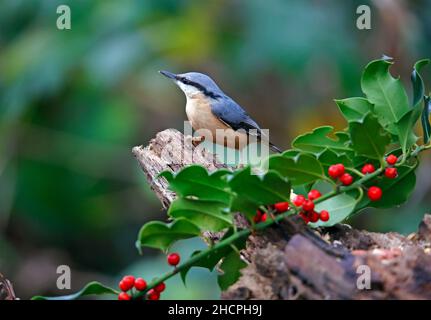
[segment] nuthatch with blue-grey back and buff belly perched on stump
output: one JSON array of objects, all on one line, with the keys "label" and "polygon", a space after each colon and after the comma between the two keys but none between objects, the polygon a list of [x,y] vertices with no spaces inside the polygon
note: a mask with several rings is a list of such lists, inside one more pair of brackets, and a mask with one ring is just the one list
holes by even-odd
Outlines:
[{"label": "nuthatch with blue-grey back and buff belly perched on stump", "polygon": [[[272,151],[282,152],[269,141],[256,121],[206,74],[199,72],[175,74],[164,70],[159,72],[173,80],[184,92],[187,98],[187,118],[194,130],[209,130],[213,142],[229,148],[241,150],[252,140],[249,137],[254,136],[257,141],[267,141]],[[216,139],[218,129],[224,130],[223,141]]]}]

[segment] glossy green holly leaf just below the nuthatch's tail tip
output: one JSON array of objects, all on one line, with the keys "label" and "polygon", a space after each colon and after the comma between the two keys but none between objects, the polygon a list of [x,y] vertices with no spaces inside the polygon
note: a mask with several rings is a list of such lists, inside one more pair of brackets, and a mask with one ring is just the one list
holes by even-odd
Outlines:
[{"label": "glossy green holly leaf just below the nuthatch's tail tip", "polygon": [[294,157],[272,155],[267,161],[270,170],[287,177],[294,186],[326,179],[320,162],[309,154],[299,153]]}]

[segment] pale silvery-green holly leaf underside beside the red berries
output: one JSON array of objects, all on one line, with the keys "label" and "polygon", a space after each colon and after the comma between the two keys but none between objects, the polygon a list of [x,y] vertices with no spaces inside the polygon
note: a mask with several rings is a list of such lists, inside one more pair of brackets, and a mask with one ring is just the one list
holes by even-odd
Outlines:
[{"label": "pale silvery-green holly leaf underside beside the red berries", "polygon": [[345,220],[355,210],[356,199],[345,193],[316,204],[316,211],[327,210],[329,220],[310,223],[311,227],[330,227]]}]

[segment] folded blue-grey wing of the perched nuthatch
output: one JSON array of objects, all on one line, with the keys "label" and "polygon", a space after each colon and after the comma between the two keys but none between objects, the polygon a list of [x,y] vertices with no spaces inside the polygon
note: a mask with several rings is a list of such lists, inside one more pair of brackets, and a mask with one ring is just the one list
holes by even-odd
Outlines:
[{"label": "folded blue-grey wing of the perched nuthatch", "polygon": [[[234,130],[243,129],[247,133],[253,130],[260,136],[259,125],[245,112],[241,106],[229,97],[214,99],[211,103],[212,113]],[[252,132],[253,132],[252,131]]]}]

